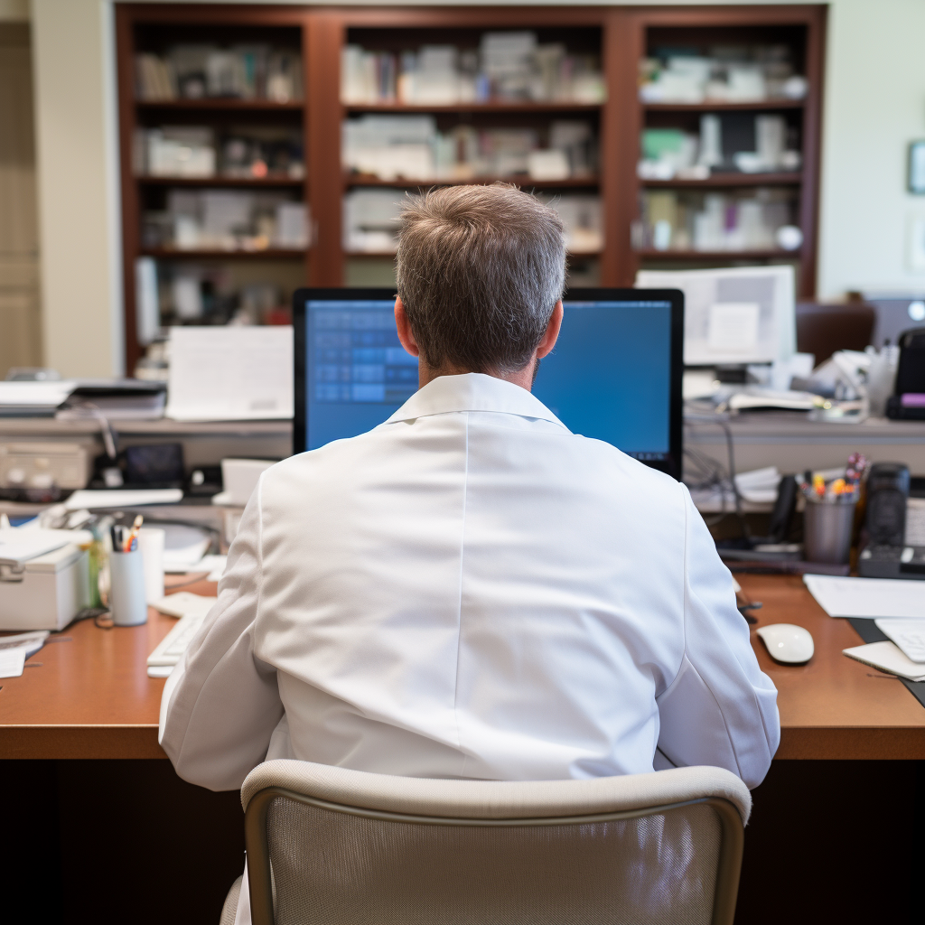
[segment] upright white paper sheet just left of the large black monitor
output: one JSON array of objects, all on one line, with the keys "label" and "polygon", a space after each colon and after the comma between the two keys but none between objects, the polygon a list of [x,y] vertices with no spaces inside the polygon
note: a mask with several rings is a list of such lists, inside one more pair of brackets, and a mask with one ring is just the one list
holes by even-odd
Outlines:
[{"label": "upright white paper sheet just left of the large black monitor", "polygon": [[291,418],[291,327],[172,327],[167,417]]}]

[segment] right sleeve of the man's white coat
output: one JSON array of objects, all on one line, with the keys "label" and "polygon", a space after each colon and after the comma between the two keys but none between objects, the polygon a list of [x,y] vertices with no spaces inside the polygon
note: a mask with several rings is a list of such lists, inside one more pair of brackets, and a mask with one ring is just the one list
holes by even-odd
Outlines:
[{"label": "right sleeve of the man's white coat", "polygon": [[781,740],[777,689],[759,669],[732,575],[685,487],[685,655],[658,698],[659,750],[675,765],[733,771],[756,787]]}]

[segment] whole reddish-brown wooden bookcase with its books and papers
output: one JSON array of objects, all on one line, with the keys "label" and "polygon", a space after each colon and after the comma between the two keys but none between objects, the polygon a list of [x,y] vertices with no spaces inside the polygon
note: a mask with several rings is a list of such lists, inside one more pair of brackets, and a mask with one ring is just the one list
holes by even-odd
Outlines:
[{"label": "whole reddish-brown wooden bookcase with its books and papers", "polygon": [[172,324],[391,285],[397,203],[457,183],[559,209],[573,285],[789,262],[811,297],[824,29],[824,6],[117,4],[128,371]]}]

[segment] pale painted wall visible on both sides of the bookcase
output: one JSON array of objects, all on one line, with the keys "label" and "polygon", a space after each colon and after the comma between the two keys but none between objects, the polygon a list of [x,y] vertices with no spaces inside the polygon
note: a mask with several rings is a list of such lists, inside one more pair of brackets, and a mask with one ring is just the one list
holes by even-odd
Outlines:
[{"label": "pale painted wall visible on both sides of the bookcase", "polygon": [[[0,18],[7,9],[20,18],[26,7],[25,0],[0,0]],[[31,0],[31,8],[45,360],[66,375],[121,373],[111,0]],[[925,214],[925,197],[905,191],[907,142],[925,138],[923,36],[925,0],[830,4],[824,298],[870,286],[925,288],[925,274],[906,265],[908,216]]]}]

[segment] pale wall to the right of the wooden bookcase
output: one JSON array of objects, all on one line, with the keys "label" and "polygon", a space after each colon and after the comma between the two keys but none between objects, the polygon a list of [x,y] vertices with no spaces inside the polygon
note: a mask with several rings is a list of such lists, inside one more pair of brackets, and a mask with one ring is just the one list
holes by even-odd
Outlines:
[{"label": "pale wall to the right of the wooden bookcase", "polygon": [[925,138],[925,3],[836,0],[823,121],[819,291],[925,288],[907,269],[908,142]]}]

